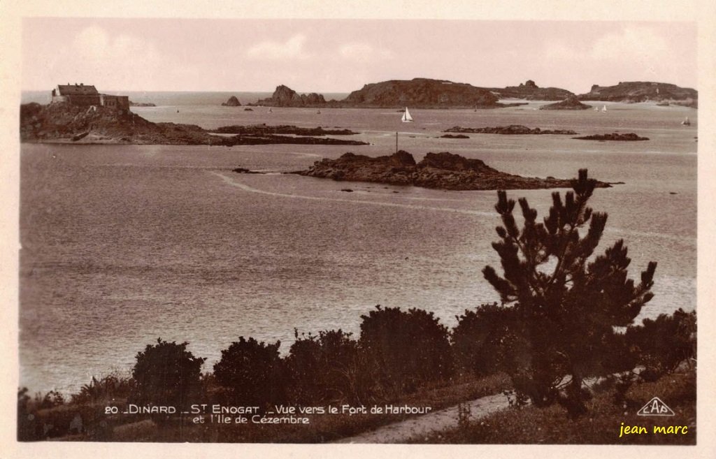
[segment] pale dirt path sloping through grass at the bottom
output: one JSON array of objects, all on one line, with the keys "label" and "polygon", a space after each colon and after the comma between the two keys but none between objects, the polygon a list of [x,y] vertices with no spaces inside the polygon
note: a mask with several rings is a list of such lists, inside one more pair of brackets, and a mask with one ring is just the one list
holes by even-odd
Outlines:
[{"label": "pale dirt path sloping through grass at the bottom", "polygon": [[[476,420],[503,410],[509,406],[503,394],[488,395],[466,403],[470,407],[470,420]],[[458,407],[445,408],[417,418],[384,425],[353,437],[342,438],[335,443],[405,443],[410,438],[420,437],[437,430],[454,428],[458,425]]]}]

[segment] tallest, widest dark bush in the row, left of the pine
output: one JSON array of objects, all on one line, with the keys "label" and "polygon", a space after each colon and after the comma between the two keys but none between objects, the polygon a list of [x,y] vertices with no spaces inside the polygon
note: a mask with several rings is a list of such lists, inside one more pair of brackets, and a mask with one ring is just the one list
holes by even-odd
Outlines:
[{"label": "tallest, widest dark bush in the row, left of the pine", "polygon": [[432,312],[378,305],[361,317],[359,346],[383,396],[411,393],[453,375],[448,329]]}]

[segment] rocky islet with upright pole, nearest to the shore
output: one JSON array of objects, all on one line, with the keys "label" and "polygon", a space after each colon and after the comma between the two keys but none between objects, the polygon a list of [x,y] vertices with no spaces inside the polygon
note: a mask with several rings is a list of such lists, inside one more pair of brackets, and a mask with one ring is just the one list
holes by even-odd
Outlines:
[{"label": "rocky islet with upright pole, nearest to the shore", "polygon": [[[421,162],[400,150],[390,156],[367,157],[346,153],[338,159],[316,161],[306,171],[294,172],[352,182],[377,182],[435,189],[544,189],[568,188],[571,180],[521,177],[500,172],[480,159],[467,159],[448,152],[428,153]],[[599,182],[599,187],[609,184]]]}]

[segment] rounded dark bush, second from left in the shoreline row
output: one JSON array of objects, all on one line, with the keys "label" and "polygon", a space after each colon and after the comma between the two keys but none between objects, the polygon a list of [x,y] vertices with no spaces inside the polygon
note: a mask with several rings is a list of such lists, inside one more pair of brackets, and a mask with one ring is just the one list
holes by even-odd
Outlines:
[{"label": "rounded dark bush, second from left in the shoreline row", "polygon": [[280,341],[267,345],[242,336],[221,351],[214,377],[228,390],[232,402],[264,405],[284,401],[286,377],[279,346]]}]

